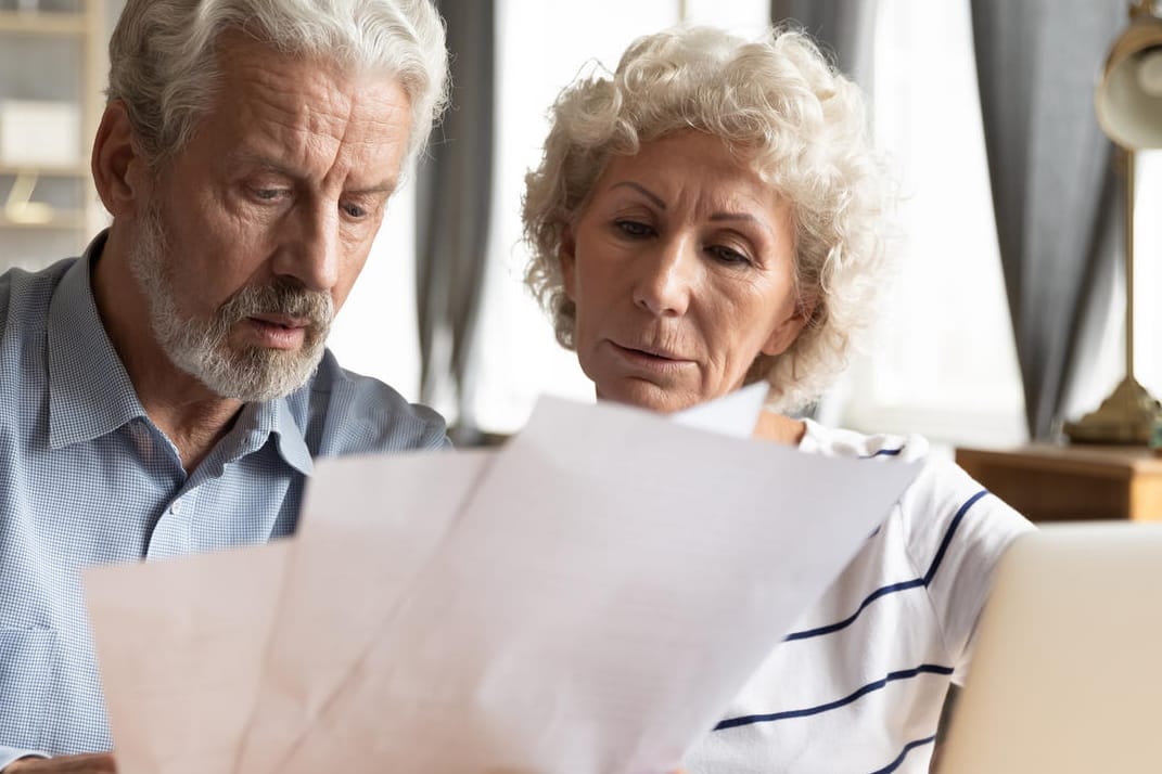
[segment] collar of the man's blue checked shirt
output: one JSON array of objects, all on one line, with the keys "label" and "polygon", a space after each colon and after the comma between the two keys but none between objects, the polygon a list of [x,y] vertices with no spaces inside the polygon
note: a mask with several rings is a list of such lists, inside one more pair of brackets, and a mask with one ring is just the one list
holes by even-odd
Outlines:
[{"label": "collar of the man's blue checked shirt", "polygon": [[[92,267],[107,237],[107,230],[99,233],[65,272],[49,306],[49,444],[53,449],[92,441],[137,418],[149,419],[93,298]],[[282,460],[309,476],[314,470],[310,451],[285,398],[243,407],[230,433],[239,439],[235,458],[261,448],[272,434]]]}]

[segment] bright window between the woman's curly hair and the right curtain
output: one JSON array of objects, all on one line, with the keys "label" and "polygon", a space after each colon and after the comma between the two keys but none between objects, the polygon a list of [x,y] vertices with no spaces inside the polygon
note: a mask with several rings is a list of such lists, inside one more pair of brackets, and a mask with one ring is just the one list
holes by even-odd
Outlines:
[{"label": "bright window between the woman's curly hair and the right curtain", "polygon": [[824,419],[948,443],[1025,439],[968,3],[878,3],[873,116],[898,171],[898,277]]}]

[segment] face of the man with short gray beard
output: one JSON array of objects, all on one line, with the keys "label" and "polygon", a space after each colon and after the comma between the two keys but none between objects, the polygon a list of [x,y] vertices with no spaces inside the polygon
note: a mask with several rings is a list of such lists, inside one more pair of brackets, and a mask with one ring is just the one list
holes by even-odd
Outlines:
[{"label": "face of the man with short gray beard", "polygon": [[131,267],[153,334],[215,393],[301,385],[363,269],[407,151],[402,87],[223,42],[222,87],[153,178]]}]

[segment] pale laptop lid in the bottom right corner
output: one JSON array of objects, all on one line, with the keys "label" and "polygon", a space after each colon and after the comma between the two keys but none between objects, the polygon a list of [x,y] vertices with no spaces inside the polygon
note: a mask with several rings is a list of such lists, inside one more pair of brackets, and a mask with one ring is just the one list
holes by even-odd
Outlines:
[{"label": "pale laptop lid in the bottom right corner", "polygon": [[1162,772],[1162,525],[1043,525],[1012,544],[938,771]]}]

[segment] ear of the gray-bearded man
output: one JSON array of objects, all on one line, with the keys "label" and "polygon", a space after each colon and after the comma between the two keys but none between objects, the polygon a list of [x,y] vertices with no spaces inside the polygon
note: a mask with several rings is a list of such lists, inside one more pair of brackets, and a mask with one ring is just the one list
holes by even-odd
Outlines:
[{"label": "ear of the gray-bearded man", "polygon": [[121,100],[105,108],[93,138],[93,182],[101,203],[114,217],[129,215],[144,201],[149,174]]}]

